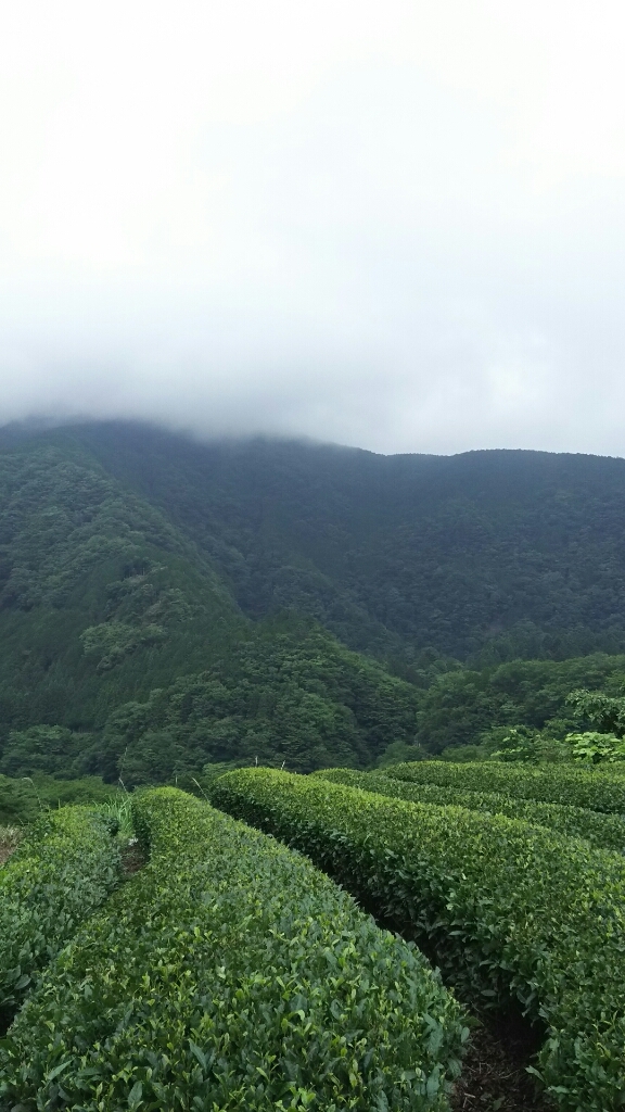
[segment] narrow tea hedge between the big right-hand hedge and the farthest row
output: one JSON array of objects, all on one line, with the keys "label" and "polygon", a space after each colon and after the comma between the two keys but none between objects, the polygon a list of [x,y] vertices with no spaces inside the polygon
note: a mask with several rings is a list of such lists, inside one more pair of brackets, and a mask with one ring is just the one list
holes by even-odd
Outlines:
[{"label": "narrow tea hedge between the big right-hand hedge and the farthest row", "polygon": [[391,780],[378,773],[354,772],[350,768],[329,768],[315,773],[334,784],[363,787],[366,792],[389,795],[409,803],[453,804],[493,815],[520,818],[535,826],[548,826],[569,837],[584,837],[603,850],[625,853],[625,818],[603,815],[598,811],[571,807],[559,803],[539,803],[536,800],[507,798],[495,792],[465,792],[460,787],[440,787],[438,784],[418,784]]}]

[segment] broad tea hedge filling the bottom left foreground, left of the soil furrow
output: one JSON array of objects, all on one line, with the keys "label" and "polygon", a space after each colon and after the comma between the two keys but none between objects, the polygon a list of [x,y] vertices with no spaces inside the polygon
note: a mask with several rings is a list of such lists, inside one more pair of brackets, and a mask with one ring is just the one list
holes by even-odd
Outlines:
[{"label": "broad tea hedge filling the bottom left foreground, left of the soil furrow", "polygon": [[466,1037],[423,955],[310,862],[175,788],[149,863],[59,955],[0,1050],[0,1106],[447,1109]]}]

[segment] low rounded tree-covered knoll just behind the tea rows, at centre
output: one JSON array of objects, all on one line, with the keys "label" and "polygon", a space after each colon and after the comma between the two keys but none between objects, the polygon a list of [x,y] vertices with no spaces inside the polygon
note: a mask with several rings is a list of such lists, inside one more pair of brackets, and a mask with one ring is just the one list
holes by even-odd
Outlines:
[{"label": "low rounded tree-covered knoll just behind the tea rows, at centre", "polygon": [[365,765],[414,733],[417,692],[310,620],[266,623],[209,672],[113,712],[102,771],[163,783],[207,762]]}]

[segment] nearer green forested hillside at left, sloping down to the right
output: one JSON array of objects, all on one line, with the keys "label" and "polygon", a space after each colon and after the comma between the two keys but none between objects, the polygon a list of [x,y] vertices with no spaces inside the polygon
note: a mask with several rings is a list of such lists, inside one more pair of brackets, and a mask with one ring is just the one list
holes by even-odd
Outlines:
[{"label": "nearer green forested hillside at left, sloping down to the right", "polygon": [[414,687],[306,615],[251,623],[206,550],[72,437],[0,450],[0,773],[307,771],[411,739]]}]

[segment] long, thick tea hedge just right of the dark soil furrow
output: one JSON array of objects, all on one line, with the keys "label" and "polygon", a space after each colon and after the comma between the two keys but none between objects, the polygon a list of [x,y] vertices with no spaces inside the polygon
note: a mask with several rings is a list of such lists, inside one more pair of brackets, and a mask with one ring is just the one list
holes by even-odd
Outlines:
[{"label": "long, thick tea hedge just right of the dark soil furrow", "polygon": [[625,862],[503,815],[405,803],[272,770],[228,773],[216,802],[305,851],[437,956],[477,1004],[516,999],[548,1036],[562,1109],[625,1101]]}]

